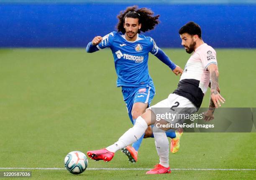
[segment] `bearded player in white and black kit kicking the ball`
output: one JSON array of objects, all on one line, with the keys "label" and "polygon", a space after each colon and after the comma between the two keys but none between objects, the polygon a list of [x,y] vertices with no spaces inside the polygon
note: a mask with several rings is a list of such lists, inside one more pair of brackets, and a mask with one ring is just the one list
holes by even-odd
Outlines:
[{"label": "bearded player in white and black kit kicking the ball", "polygon": [[[146,174],[171,173],[169,167],[169,141],[165,134],[165,131],[170,128],[156,127],[156,123],[167,124],[168,120],[161,119],[156,121],[154,108],[171,107],[170,109],[174,110],[174,112],[177,110],[182,113],[182,110],[184,110],[189,114],[194,113],[202,104],[209,82],[211,82],[211,98],[209,108],[204,113],[205,121],[212,120],[215,107],[220,107],[220,102],[224,103],[225,101],[219,94],[219,72],[216,52],[211,46],[203,42],[201,33],[200,26],[194,22],[187,23],[179,30],[182,45],[186,52],[189,54],[194,53],[187,61],[177,89],[167,99],[149,107],[143,115],[137,118],[133,128],[126,131],[116,143],[102,150],[88,151],[87,155],[90,158],[110,161],[117,150],[136,142],[148,128],[148,125],[155,124],[153,132],[160,163]],[[187,109],[189,109],[189,112],[187,112]]]}]

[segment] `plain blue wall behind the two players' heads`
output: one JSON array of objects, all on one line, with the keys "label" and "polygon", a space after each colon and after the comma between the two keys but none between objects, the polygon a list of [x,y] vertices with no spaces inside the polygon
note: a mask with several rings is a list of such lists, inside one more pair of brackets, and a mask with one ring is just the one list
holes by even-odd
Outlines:
[{"label": "plain blue wall behind the two players' heads", "polygon": [[[85,47],[115,30],[120,10],[133,4],[0,4],[0,47]],[[256,47],[255,4],[139,4],[160,14],[145,35],[159,47],[181,47],[179,28],[195,21],[212,47]]]}]

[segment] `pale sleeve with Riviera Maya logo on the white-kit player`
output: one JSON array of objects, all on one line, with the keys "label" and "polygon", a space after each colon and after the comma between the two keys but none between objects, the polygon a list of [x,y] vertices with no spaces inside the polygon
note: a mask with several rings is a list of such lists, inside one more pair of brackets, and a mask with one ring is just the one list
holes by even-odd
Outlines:
[{"label": "pale sleeve with Riviera Maya logo on the white-kit player", "polygon": [[216,51],[213,48],[205,48],[202,50],[200,52],[200,57],[205,70],[208,70],[207,67],[210,64],[217,65]]}]

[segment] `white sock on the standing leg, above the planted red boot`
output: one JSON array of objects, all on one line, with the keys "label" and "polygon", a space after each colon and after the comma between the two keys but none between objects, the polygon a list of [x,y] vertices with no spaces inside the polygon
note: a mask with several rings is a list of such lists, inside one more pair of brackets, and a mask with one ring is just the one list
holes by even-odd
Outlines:
[{"label": "white sock on the standing leg, above the planted red boot", "polygon": [[160,165],[164,166],[165,168],[169,167],[169,140],[166,136],[164,130],[153,128],[154,138],[155,138],[155,145],[156,151],[160,158]]}]

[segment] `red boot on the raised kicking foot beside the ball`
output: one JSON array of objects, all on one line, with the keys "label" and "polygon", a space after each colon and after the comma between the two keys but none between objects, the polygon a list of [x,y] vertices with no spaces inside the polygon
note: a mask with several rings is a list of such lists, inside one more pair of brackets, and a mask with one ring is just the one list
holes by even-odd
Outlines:
[{"label": "red boot on the raised kicking foot beside the ball", "polygon": [[88,151],[87,155],[95,161],[104,160],[105,162],[108,162],[112,160],[115,153],[112,153],[104,148],[101,150]]}]

